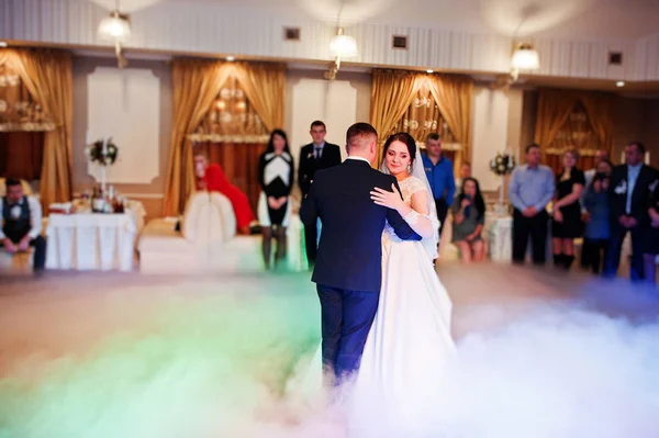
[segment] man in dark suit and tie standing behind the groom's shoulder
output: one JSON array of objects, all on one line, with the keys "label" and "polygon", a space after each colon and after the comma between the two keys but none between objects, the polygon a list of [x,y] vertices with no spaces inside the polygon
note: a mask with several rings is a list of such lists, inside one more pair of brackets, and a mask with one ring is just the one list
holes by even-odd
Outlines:
[{"label": "man in dark suit and tie standing behind the groom's shoulder", "polygon": [[[327,130],[325,123],[320,120],[311,124],[310,131],[313,143],[303,146],[300,150],[300,166],[298,167],[298,184],[302,196],[306,196],[311,181],[315,172],[340,165],[340,149],[337,145],[325,143]],[[319,227],[316,224],[304,226],[304,239],[306,246],[306,259],[309,266],[313,267],[316,260],[316,244],[319,239]]]}]

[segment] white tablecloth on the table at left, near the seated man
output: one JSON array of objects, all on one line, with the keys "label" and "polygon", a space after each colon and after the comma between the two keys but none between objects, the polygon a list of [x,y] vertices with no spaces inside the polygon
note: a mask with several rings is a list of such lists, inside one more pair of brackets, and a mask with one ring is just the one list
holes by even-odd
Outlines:
[{"label": "white tablecloth on the table at left, near the seated man", "polygon": [[141,203],[121,214],[51,214],[46,268],[130,271],[143,226]]}]

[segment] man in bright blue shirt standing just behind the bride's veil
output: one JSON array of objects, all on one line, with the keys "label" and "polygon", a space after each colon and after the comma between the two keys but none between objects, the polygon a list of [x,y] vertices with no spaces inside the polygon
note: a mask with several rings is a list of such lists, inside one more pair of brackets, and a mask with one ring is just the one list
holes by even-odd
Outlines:
[{"label": "man in bright blue shirt standing just behind the bride's veil", "polygon": [[453,172],[453,161],[442,156],[442,138],[437,133],[426,137],[426,154],[422,154],[423,167],[435,198],[439,235],[446,221],[446,214],[456,195],[456,180]]}]

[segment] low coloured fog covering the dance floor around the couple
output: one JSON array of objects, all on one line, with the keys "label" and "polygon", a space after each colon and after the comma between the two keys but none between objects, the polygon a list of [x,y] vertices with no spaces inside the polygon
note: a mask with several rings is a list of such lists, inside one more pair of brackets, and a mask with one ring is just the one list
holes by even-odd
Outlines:
[{"label": "low coloured fog covering the dance floor around the couple", "polygon": [[[456,436],[659,436],[659,291],[509,265],[437,271],[460,353]],[[317,346],[309,277],[0,279],[0,437],[343,438],[340,415],[288,391]]]}]

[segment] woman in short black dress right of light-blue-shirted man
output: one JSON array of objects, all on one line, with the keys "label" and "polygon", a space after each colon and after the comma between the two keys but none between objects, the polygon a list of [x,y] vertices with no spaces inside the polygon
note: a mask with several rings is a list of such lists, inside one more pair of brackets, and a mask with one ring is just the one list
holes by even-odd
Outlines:
[{"label": "woman in short black dress right of light-blue-shirted man", "polygon": [[570,269],[574,261],[574,239],[583,234],[581,192],[585,184],[583,172],[576,168],[579,154],[567,150],[562,156],[563,170],[556,178],[554,200],[554,266]]}]

